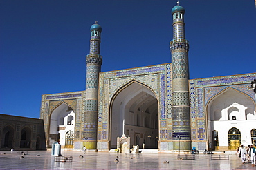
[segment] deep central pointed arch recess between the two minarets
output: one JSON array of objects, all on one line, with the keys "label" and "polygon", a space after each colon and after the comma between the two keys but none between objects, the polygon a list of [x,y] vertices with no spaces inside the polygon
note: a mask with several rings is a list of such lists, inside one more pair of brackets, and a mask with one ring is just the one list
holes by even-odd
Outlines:
[{"label": "deep central pointed arch recess between the two minarets", "polygon": [[120,87],[111,98],[109,114],[111,148],[116,147],[116,138],[122,134],[130,136],[130,145],[141,147],[146,142],[147,148],[157,147],[155,138],[145,138],[158,138],[158,100],[150,87],[138,81]]}]

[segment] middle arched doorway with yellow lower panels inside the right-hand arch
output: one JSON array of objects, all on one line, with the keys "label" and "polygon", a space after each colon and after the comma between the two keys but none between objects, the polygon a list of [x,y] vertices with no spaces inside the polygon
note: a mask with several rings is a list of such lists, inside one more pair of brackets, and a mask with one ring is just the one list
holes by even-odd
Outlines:
[{"label": "middle arched doorway with yellow lower panels inside the right-hand arch", "polygon": [[228,131],[228,149],[236,150],[241,144],[241,132],[239,129],[232,127]]}]

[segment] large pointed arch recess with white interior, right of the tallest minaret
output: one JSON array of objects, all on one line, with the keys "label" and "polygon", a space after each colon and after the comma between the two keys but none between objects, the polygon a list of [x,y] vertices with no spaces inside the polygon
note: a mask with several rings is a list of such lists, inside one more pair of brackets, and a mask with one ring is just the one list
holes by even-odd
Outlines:
[{"label": "large pointed arch recess with white interior, right of the tallest minaret", "polygon": [[[241,128],[243,123],[246,123],[248,118],[256,120],[254,100],[232,87],[223,89],[208,100],[205,111],[208,120],[208,138],[213,142],[214,138],[210,135],[212,131],[218,131],[219,136],[226,136],[230,128],[234,127],[239,129],[240,135],[243,136],[248,133],[246,129]],[[253,121],[248,122],[248,126],[253,126]],[[230,135],[227,137],[219,138],[219,149],[235,149],[241,142],[239,139],[230,139]]]}]

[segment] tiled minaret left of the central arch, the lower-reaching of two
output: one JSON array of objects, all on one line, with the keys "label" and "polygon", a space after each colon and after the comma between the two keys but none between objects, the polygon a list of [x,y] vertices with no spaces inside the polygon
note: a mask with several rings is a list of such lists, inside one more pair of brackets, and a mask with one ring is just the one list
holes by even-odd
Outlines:
[{"label": "tiled minaret left of the central arch, the lower-reaching of two", "polygon": [[84,101],[83,138],[87,149],[97,148],[98,83],[101,71],[100,33],[102,28],[96,22],[91,25],[90,53],[86,56],[86,97]]}]

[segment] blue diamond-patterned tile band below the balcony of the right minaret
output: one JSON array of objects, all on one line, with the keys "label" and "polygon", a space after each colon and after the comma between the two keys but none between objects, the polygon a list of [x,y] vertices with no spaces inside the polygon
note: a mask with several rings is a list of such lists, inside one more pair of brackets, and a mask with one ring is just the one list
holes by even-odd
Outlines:
[{"label": "blue diamond-patterned tile band below the balcony of the right minaret", "polygon": [[172,50],[172,78],[189,78],[188,52],[184,50]]}]

